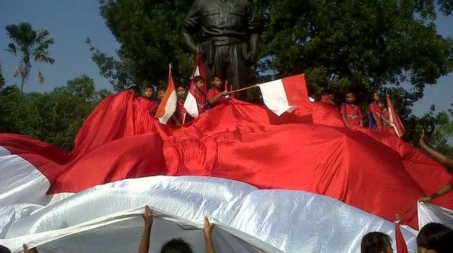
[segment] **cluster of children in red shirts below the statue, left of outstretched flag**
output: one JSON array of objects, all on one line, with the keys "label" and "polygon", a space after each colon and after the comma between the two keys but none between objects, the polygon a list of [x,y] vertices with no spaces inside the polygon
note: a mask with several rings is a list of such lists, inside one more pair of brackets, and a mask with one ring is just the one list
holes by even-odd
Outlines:
[{"label": "cluster of children in red shirts below the statue, left of outstretched flag", "polygon": [[[176,106],[176,112],[172,115],[172,120],[177,127],[180,127],[186,122],[191,122],[194,118],[187,113],[184,104],[189,92],[194,95],[196,104],[198,107],[198,114],[206,111],[206,109],[212,109],[214,106],[224,103],[228,100],[228,91],[224,90],[223,81],[220,77],[214,75],[212,77],[212,88],[205,93],[205,79],[200,75],[195,76],[192,79],[194,82],[193,90],[189,91],[189,88],[185,84],[179,84],[176,87],[176,95],[178,97],[178,104]],[[139,87],[133,86],[130,91],[135,95],[139,95]],[[155,88],[152,85],[145,84],[143,99],[149,102],[147,109],[151,115],[155,115],[157,108],[165,94],[165,89],[160,88],[157,90],[157,100],[153,99]]]}]

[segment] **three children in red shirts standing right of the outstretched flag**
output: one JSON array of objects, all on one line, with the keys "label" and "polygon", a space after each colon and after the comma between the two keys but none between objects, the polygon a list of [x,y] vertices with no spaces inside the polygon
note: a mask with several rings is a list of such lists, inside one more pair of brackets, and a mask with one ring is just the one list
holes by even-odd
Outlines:
[{"label": "three children in red shirts standing right of the outstretched flag", "polygon": [[[345,127],[350,129],[358,129],[364,127],[364,115],[361,112],[360,106],[355,104],[356,96],[353,92],[348,92],[345,95],[345,102],[341,104],[341,118],[345,123]],[[332,93],[325,92],[321,97],[320,102],[330,105],[335,105]],[[373,93],[373,101],[369,106],[369,124],[371,129],[386,129],[392,131],[392,123],[389,119],[388,108],[386,102],[381,99],[379,93]]]}]

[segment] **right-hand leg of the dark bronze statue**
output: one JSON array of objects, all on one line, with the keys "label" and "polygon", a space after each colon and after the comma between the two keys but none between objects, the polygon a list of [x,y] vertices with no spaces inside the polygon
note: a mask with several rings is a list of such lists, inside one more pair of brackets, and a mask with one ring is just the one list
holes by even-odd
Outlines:
[{"label": "right-hand leg of the dark bronze statue", "polygon": [[[246,84],[246,59],[243,57],[244,46],[245,43],[228,46],[230,53],[226,73],[228,83],[232,84],[233,90],[248,86]],[[247,101],[247,91],[237,93],[236,98]]]}]

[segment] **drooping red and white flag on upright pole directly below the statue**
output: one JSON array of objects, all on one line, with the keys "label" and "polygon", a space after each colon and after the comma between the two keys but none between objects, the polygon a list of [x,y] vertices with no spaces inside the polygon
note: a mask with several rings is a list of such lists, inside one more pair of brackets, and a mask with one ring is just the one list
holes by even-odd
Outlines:
[{"label": "drooping red and white flag on upright pole directly below the statue", "polygon": [[[184,108],[186,109],[187,113],[191,115],[192,117],[196,118],[200,114],[198,112],[198,103],[196,101],[196,90],[195,90],[195,82],[194,82],[194,77],[197,75],[200,75],[205,79],[206,82],[206,72],[205,72],[205,67],[203,66],[203,61],[200,57],[200,53],[197,51],[195,55],[195,67],[194,67],[194,73],[192,73],[191,76],[191,81],[190,81],[190,87],[189,87],[189,93],[187,93],[186,100],[184,102]],[[203,86],[203,93],[206,94],[206,86]]]}]

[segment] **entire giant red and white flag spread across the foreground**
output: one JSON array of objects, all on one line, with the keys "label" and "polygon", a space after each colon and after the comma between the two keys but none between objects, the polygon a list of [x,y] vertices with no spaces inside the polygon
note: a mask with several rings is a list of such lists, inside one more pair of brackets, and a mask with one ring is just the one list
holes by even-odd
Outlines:
[{"label": "entire giant red and white flag spread across the foreground", "polygon": [[[137,117],[134,100],[126,91],[106,98],[71,153],[0,134],[0,245],[12,252],[23,243],[40,252],[137,252],[140,214],[150,205],[154,251],[174,237],[203,251],[203,217],[210,216],[216,252],[353,253],[367,232],[395,242],[397,213],[410,226],[401,232],[413,251],[418,198],[452,180],[445,167],[386,132],[320,119],[275,125],[263,106],[237,100],[180,129],[153,120],[137,132],[150,116],[143,110]],[[453,209],[453,196],[426,205]],[[450,214],[436,221],[451,223]]]}]

